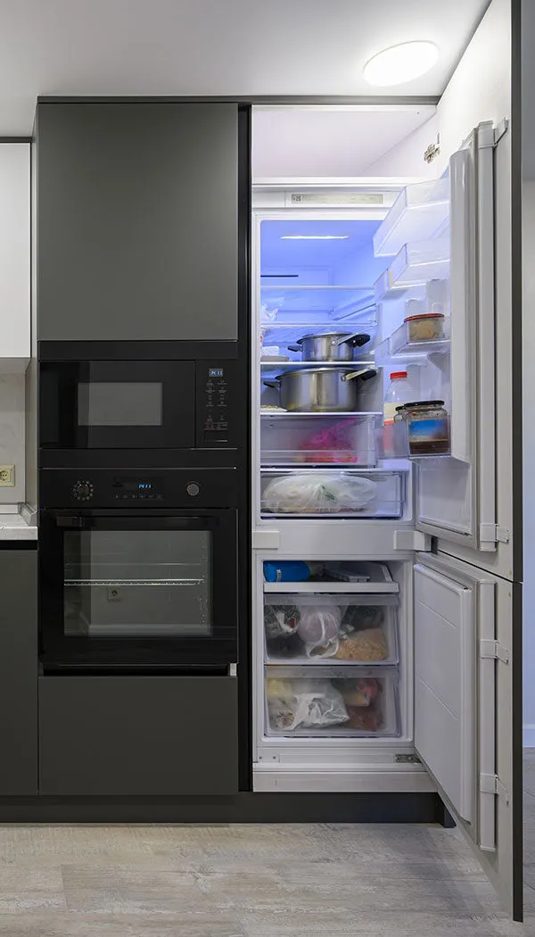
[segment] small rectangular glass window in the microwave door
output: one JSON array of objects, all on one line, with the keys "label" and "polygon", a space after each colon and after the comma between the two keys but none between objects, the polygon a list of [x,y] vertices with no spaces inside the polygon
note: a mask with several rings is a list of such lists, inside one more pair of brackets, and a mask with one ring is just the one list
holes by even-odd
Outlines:
[{"label": "small rectangular glass window in the microwave door", "polygon": [[162,385],[156,381],[83,381],[79,426],[161,426]]}]

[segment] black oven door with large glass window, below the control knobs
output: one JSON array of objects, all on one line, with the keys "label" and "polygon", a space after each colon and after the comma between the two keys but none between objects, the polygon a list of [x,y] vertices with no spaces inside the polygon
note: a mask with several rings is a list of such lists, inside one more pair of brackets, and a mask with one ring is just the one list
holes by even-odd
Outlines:
[{"label": "black oven door with large glass window, below the control knobs", "polygon": [[236,528],[233,510],[43,512],[45,669],[236,662]]}]

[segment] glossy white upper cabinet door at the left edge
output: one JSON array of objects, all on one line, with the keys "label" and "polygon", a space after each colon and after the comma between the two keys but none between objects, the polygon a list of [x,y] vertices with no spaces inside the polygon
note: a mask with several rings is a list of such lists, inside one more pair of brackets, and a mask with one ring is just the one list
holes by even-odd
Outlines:
[{"label": "glossy white upper cabinet door at the left edge", "polygon": [[29,357],[30,144],[0,143],[0,369]]}]

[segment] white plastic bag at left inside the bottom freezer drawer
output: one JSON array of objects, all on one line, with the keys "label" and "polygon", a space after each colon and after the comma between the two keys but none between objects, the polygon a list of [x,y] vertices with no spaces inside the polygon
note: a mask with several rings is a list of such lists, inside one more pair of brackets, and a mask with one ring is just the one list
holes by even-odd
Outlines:
[{"label": "white plastic bag at left inside the bottom freezer drawer", "polygon": [[329,680],[268,679],[269,721],[272,729],[325,728],[348,721],[341,694]]}]

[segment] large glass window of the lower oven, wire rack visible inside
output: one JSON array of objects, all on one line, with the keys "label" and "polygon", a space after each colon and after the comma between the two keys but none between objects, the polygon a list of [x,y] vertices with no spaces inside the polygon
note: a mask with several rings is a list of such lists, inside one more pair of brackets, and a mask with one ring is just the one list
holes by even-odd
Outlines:
[{"label": "large glass window of the lower oven, wire rack visible inside", "polygon": [[211,537],[207,530],[66,531],[65,633],[210,636]]}]

